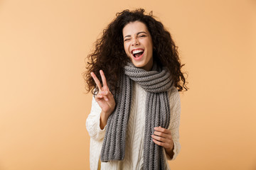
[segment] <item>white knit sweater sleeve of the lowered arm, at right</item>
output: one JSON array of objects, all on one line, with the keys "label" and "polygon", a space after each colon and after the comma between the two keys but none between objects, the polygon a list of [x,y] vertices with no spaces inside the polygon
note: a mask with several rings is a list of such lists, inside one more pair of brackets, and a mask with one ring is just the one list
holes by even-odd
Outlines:
[{"label": "white knit sweater sleeve of the lowered arm, at right", "polygon": [[174,157],[171,159],[168,154],[166,154],[167,159],[174,160],[176,159],[178,152],[181,150],[181,145],[179,143],[179,125],[181,119],[181,100],[176,88],[171,89],[169,94],[170,100],[170,111],[171,119],[169,130],[171,130],[171,137],[174,140]]}]

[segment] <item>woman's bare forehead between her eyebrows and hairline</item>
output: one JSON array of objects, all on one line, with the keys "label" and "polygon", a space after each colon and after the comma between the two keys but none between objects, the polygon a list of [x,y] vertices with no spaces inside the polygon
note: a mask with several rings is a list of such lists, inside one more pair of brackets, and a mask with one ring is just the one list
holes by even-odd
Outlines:
[{"label": "woman's bare forehead between her eyebrows and hairline", "polygon": [[146,32],[149,33],[149,30],[146,28],[146,25],[140,21],[134,21],[131,23],[127,23],[126,26],[124,26],[122,33],[123,35],[132,35],[139,32]]}]

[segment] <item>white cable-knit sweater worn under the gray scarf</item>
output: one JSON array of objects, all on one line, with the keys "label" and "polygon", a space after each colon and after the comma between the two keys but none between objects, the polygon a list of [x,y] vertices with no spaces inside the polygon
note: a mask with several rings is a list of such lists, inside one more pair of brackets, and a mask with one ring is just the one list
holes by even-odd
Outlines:
[{"label": "white cable-knit sweater worn under the gray scarf", "polygon": [[[101,162],[101,169],[143,169],[143,145],[144,145],[144,125],[145,125],[145,102],[146,91],[139,84],[133,82],[132,101],[127,126],[127,137],[125,144],[125,155],[123,161]],[[174,157],[177,157],[181,149],[179,144],[178,127],[180,124],[181,102],[178,91],[172,88],[169,91],[171,120],[169,130],[174,140]],[[90,135],[90,169],[98,167],[102,142],[105,136],[106,127],[100,129],[101,108],[92,97],[92,108],[86,120],[86,128]],[[166,159],[170,159],[164,152]],[[169,164],[166,161],[166,169]]]}]

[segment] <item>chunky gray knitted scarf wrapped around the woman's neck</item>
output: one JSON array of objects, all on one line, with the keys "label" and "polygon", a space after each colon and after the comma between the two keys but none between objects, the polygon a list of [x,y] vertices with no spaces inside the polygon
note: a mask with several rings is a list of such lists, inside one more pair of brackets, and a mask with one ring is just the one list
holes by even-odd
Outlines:
[{"label": "chunky gray knitted scarf wrapped around the woman's neck", "polygon": [[116,108],[107,120],[106,133],[100,159],[102,162],[123,160],[125,137],[132,98],[132,81],[136,81],[147,92],[144,132],[144,169],[164,169],[164,148],[156,145],[151,138],[154,127],[169,128],[170,106],[167,91],[172,79],[169,71],[154,64],[152,71],[134,67],[128,63],[119,81],[119,93],[114,95]]}]

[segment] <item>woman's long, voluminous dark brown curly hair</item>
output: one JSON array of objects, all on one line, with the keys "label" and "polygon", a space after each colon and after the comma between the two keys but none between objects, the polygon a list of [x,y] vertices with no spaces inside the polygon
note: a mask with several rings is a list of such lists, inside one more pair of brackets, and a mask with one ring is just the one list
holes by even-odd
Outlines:
[{"label": "woman's long, voluminous dark brown curly hair", "polygon": [[112,21],[105,30],[102,37],[97,39],[95,50],[87,55],[87,71],[83,73],[86,82],[87,92],[97,94],[97,86],[92,79],[90,72],[94,72],[100,78],[100,69],[105,73],[110,91],[118,89],[117,82],[123,73],[123,68],[127,62],[131,61],[124,51],[124,40],[122,30],[130,22],[140,21],[146,25],[153,41],[154,62],[160,67],[167,67],[174,80],[174,86],[178,91],[188,90],[186,79],[181,72],[181,62],[178,57],[178,47],[175,45],[171,34],[163,24],[152,15],[144,14],[144,9],[139,8],[134,11],[124,10],[116,14],[117,18]]}]

